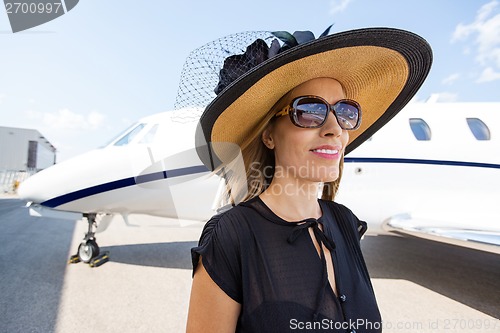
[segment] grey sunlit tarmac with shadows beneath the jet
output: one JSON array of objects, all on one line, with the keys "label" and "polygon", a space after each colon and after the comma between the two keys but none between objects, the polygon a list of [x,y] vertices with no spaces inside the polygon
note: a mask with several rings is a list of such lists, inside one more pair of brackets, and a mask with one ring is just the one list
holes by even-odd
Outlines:
[{"label": "grey sunlit tarmac with shadows beneath the jet", "polygon": [[[87,225],[0,199],[0,332],[184,332],[202,223],[136,216],[97,234],[110,261],[68,264]],[[500,332],[500,255],[398,235],[362,249],[384,332]],[[300,331],[300,330],[297,330]]]}]

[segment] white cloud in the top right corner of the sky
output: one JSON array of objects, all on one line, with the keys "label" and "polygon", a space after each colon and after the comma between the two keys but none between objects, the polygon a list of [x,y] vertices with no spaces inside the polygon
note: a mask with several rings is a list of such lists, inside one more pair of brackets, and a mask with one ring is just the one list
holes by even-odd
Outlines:
[{"label": "white cloud in the top right corner of the sky", "polygon": [[[496,0],[483,5],[477,11],[474,22],[457,25],[451,39],[451,42],[454,43],[475,36],[474,44],[477,47],[473,49],[473,52],[476,52],[476,61],[481,66],[486,67],[477,82],[500,79],[498,75],[491,75],[495,74],[495,69],[491,68],[492,66],[500,70],[500,13],[495,13],[498,5],[499,2]],[[488,80],[482,79],[483,76]]]}]

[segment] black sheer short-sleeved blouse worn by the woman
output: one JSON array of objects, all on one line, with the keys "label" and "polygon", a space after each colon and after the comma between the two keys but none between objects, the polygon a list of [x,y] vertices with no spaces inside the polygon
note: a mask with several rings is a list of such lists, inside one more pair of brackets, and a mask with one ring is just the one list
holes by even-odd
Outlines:
[{"label": "black sheer short-sleeved blouse worn by the woman", "polygon": [[[214,282],[241,304],[236,332],[382,331],[359,246],[366,223],[340,204],[319,203],[321,218],[287,222],[256,197],[205,225],[191,250],[193,272],[201,255]],[[331,252],[338,296],[308,228]]]}]

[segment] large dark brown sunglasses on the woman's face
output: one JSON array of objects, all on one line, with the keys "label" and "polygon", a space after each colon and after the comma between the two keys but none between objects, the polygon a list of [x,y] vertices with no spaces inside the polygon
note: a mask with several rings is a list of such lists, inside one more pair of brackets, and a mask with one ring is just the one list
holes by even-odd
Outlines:
[{"label": "large dark brown sunglasses on the woman's face", "polygon": [[361,124],[361,107],[350,99],[341,99],[329,104],[319,96],[300,96],[285,106],[275,117],[290,115],[292,123],[302,128],[319,128],[323,126],[333,112],[342,129],[355,130]]}]

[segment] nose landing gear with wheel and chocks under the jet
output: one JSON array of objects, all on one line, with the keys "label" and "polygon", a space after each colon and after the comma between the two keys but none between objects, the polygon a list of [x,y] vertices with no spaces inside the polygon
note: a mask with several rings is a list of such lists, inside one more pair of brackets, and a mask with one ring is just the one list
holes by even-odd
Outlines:
[{"label": "nose landing gear with wheel and chocks under the jet", "polygon": [[109,252],[99,253],[99,245],[97,245],[94,228],[97,227],[95,213],[84,214],[88,222],[88,231],[83,238],[83,241],[78,246],[78,252],[69,258],[70,264],[84,262],[90,267],[98,267],[109,261]]}]

